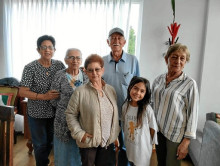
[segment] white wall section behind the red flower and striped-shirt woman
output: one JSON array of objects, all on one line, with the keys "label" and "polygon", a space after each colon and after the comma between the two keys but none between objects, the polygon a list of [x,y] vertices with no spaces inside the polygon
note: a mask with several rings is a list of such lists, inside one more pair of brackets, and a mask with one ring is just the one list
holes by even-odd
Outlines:
[{"label": "white wall section behind the red flower and striped-shirt woman", "polygon": [[[185,72],[194,78],[199,86],[205,7],[206,0],[176,1],[175,21],[181,24],[178,42],[187,45],[191,52],[191,60],[186,65]],[[162,54],[168,48],[165,42],[171,37],[167,29],[173,21],[170,1],[145,0],[142,21],[141,74],[152,82],[156,76],[167,70]]]}]

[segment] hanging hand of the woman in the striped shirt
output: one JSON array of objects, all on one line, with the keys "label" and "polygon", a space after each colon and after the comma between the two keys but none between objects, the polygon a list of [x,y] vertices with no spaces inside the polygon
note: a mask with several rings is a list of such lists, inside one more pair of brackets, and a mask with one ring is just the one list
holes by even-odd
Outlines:
[{"label": "hanging hand of the woman in the striped shirt", "polygon": [[177,148],[177,160],[182,160],[186,157],[188,154],[188,147],[190,144],[189,138],[184,138],[183,141],[180,143],[180,145]]}]

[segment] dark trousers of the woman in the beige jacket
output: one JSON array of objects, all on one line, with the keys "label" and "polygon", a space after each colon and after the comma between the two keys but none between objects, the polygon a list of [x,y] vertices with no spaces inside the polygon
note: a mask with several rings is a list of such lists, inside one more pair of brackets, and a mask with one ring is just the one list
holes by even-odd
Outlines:
[{"label": "dark trousers of the woman in the beige jacket", "polygon": [[80,148],[82,166],[115,166],[115,146],[110,144],[107,149],[98,146],[97,148]]}]

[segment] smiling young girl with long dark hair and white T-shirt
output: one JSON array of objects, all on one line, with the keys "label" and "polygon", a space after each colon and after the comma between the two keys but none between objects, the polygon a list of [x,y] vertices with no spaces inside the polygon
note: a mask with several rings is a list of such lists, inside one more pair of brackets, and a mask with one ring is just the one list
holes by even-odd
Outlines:
[{"label": "smiling young girl with long dark hair and white T-shirt", "polygon": [[149,166],[152,144],[157,144],[157,123],[150,98],[149,81],[133,77],[122,106],[126,153],[132,166]]}]

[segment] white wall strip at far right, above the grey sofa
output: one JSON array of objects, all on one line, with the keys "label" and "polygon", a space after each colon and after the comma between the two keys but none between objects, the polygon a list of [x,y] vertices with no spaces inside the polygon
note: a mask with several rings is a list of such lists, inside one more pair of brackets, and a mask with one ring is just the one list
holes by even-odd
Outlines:
[{"label": "white wall strip at far right, above the grey sofa", "polygon": [[209,0],[207,35],[202,70],[199,126],[207,112],[220,113],[220,1]]}]

